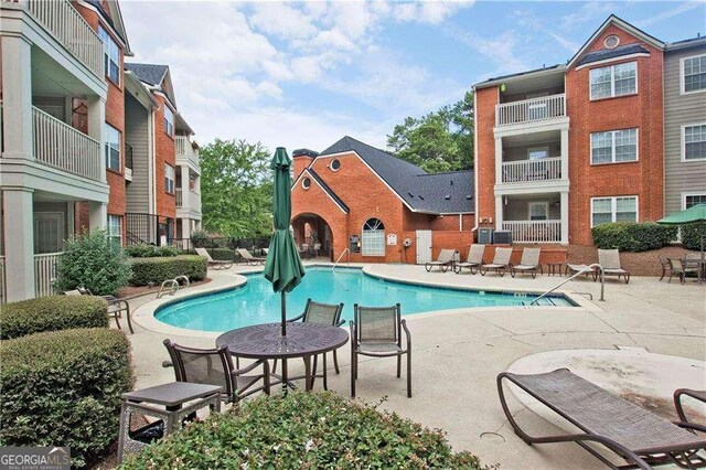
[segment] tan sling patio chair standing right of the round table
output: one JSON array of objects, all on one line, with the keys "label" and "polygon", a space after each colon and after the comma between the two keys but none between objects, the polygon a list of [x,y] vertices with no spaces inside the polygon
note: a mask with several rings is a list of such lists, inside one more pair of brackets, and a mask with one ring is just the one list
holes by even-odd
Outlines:
[{"label": "tan sling patio chair standing right of the round table", "polygon": [[[402,356],[407,354],[407,396],[411,398],[411,334],[402,319],[399,303],[394,307],[353,306],[351,321],[351,396],[355,397],[357,357],[397,356],[397,378],[402,374]],[[405,348],[402,333],[405,332]]]}]

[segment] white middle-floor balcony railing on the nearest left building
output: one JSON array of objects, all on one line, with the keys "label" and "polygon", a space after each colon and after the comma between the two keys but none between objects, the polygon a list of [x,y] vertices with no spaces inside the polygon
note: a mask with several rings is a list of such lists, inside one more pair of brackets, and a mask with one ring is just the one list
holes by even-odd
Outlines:
[{"label": "white middle-floor balcony railing on the nearest left building", "polygon": [[32,107],[34,157],[50,167],[101,181],[100,143],[69,125]]}]

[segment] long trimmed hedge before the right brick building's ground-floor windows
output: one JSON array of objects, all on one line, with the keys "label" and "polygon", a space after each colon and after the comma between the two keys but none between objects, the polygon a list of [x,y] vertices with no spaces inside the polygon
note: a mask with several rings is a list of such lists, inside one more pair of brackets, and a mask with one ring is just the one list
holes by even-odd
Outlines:
[{"label": "long trimmed hedge before the right brick building's ground-floor windows", "polygon": [[655,222],[616,222],[591,228],[593,245],[598,248],[618,248],[621,252],[646,252],[662,248],[676,238],[675,226]]}]

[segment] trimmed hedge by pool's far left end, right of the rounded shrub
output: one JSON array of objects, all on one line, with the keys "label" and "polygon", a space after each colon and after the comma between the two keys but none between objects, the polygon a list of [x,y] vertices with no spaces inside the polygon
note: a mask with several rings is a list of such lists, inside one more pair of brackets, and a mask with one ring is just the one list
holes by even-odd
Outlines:
[{"label": "trimmed hedge by pool's far left end, right of the rounded shrub", "polygon": [[132,286],[159,286],[167,279],[185,275],[189,280],[206,278],[207,261],[199,255],[181,255],[170,258],[132,258]]}]

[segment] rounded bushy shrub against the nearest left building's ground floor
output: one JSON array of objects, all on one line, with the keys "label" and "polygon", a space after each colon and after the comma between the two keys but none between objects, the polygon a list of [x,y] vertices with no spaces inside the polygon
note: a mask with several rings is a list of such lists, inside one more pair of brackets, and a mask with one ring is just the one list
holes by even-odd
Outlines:
[{"label": "rounded bushy shrub against the nearest left building's ground floor", "polygon": [[71,290],[78,286],[96,296],[115,293],[127,286],[130,264],[122,247],[105,231],[84,232],[64,243],[56,264],[56,287]]}]

